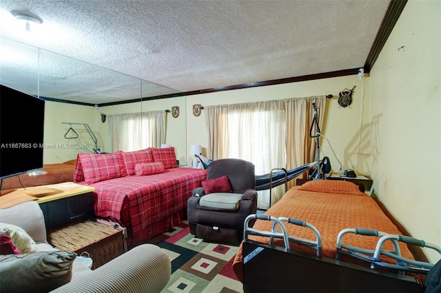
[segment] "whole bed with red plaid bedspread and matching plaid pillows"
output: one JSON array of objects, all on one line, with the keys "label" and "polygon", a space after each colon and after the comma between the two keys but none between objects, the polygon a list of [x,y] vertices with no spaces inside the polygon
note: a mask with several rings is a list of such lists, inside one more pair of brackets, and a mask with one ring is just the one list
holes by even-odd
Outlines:
[{"label": "whole bed with red plaid bedspread and matching plaid pillows", "polygon": [[[116,221],[127,228],[129,246],[143,243],[180,224],[187,214],[187,201],[193,189],[202,186],[207,177],[204,169],[178,167],[176,159],[176,166],[169,165],[167,169],[156,168],[154,164],[158,160],[143,162],[141,156],[134,160],[129,160],[127,153],[121,151],[79,154],[74,175],[75,182],[95,188],[96,217]],[[142,175],[136,175],[131,168],[141,169],[136,168],[141,164],[143,172],[138,174]],[[145,173],[145,170],[150,171]]]}]

